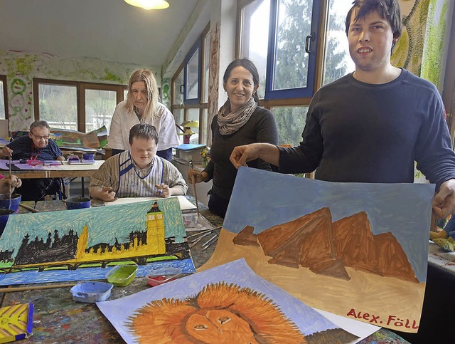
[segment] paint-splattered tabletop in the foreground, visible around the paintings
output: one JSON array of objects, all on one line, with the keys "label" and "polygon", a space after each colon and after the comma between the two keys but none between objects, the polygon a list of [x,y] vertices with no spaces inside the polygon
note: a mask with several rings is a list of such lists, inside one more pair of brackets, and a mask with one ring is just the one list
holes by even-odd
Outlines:
[{"label": "paint-splattered tabletop in the foreground, visible around the paintings", "polygon": [[[194,202],[194,198],[187,196]],[[33,202],[24,202],[33,207]],[[93,206],[102,206],[100,202],[92,202]],[[63,210],[65,205],[60,201],[40,201],[36,209],[41,211]],[[223,219],[210,213],[207,207],[199,202],[200,214],[214,226],[220,226]],[[21,208],[21,212],[28,212]],[[193,232],[191,232],[193,233]],[[217,230],[219,234],[219,229]],[[203,241],[191,248],[191,255],[196,269],[205,264],[213,254],[215,245],[202,251]],[[52,284],[52,283],[49,283]],[[150,288],[146,277],[137,277],[129,286],[112,289],[109,300],[122,298]],[[33,335],[26,343],[124,343],[117,330],[102,315],[93,303],[78,303],[73,301],[70,287],[18,291],[1,294],[1,306],[11,306],[16,303],[31,302],[35,306],[33,316]],[[380,329],[360,343],[407,343],[390,330]]]}]

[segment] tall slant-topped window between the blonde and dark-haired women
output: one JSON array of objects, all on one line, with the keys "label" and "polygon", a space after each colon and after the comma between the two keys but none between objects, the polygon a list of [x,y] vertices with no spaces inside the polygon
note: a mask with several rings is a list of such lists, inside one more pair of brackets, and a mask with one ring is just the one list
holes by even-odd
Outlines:
[{"label": "tall slant-topped window between the blonde and dark-haired women", "polygon": [[[186,120],[198,121],[191,143],[207,142],[208,71],[210,67],[210,24],[205,27],[172,77],[172,108],[177,125]],[[182,128],[183,129],[183,128]],[[182,132],[179,132],[182,134]],[[181,140],[183,141],[183,140]]]}]

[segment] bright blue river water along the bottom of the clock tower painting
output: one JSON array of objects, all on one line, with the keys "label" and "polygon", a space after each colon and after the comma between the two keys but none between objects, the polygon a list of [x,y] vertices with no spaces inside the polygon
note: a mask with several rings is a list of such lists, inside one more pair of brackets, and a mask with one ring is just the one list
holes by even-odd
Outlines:
[{"label": "bright blue river water along the bottom of the clock tower painting", "polygon": [[[194,273],[196,269],[192,259],[182,259],[181,261],[155,261],[151,264],[141,265],[137,269],[137,277],[153,275],[154,271],[168,268],[178,268],[182,273]],[[7,273],[0,276],[0,285],[16,285],[26,283],[45,283],[45,282],[68,282],[68,281],[89,281],[94,279],[105,279],[106,273],[112,269],[108,266],[102,268],[80,268],[77,270],[58,270],[58,271],[23,271],[21,273]]]}]

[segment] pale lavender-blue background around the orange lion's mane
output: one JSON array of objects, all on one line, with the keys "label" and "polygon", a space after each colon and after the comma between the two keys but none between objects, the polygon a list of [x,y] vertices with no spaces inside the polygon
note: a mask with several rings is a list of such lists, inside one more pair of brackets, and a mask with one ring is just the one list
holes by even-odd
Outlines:
[{"label": "pale lavender-blue background around the orange lion's mane", "polygon": [[123,323],[138,308],[161,298],[183,300],[188,297],[194,297],[204,286],[220,281],[235,283],[237,286],[252,288],[255,291],[264,293],[267,298],[272,299],[279,306],[284,315],[299,326],[301,332],[305,335],[327,330],[328,328],[337,328],[336,325],[314,311],[313,308],[306,306],[305,303],[291,296],[282,288],[257,276],[244,259],[201,271],[162,286],[149,288],[131,296],[100,302],[97,303],[97,306],[127,343],[136,343]]}]

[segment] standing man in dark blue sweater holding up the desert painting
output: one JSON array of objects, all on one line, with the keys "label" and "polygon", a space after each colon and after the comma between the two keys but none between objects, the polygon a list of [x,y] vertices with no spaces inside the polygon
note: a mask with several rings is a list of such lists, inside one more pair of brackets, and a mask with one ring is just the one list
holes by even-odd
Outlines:
[{"label": "standing man in dark blue sweater holding up the desert painting", "polygon": [[260,158],[279,172],[316,170],[316,179],[331,182],[412,183],[416,161],[437,184],[434,212],[453,214],[455,154],[441,96],[429,81],[390,63],[401,34],[398,1],[355,1],[346,34],[355,71],[314,95],[300,145],[239,146],[231,162],[238,168]]}]

